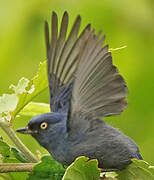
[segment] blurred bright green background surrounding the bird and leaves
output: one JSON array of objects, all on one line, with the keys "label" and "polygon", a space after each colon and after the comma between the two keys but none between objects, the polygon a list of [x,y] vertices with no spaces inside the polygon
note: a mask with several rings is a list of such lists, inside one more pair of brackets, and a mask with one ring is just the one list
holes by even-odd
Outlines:
[{"label": "blurred bright green background surrounding the bird and leaves", "polygon": [[[144,160],[154,165],[153,0],[0,0],[0,95],[21,77],[33,77],[45,60],[44,20],[52,10],[60,18],[67,10],[70,24],[80,14],[82,28],[90,22],[96,31],[103,29],[110,48],[127,46],[113,52],[113,62],[127,82],[129,105],[121,116],[106,120],[134,139]],[[48,103],[48,91],[36,101]],[[29,118],[16,118],[14,128]],[[19,137],[33,152],[45,152],[30,136]]]}]

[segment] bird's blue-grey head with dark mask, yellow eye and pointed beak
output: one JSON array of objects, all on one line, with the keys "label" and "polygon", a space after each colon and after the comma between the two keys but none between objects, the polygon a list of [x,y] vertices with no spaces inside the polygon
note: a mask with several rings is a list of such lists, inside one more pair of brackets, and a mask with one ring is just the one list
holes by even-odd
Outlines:
[{"label": "bird's blue-grey head with dark mask, yellow eye and pointed beak", "polygon": [[66,114],[46,113],[34,116],[24,128],[16,132],[32,135],[40,145],[48,149],[50,143],[57,141],[60,134],[66,133]]}]

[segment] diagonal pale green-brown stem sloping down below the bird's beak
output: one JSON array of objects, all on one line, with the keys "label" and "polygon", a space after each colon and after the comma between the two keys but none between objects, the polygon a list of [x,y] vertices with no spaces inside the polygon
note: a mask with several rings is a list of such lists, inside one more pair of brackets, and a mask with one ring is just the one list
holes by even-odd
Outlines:
[{"label": "diagonal pale green-brown stem sloping down below the bird's beak", "polygon": [[16,136],[14,130],[9,126],[9,123],[5,119],[0,120],[0,126],[29,162],[39,162],[36,156]]}]

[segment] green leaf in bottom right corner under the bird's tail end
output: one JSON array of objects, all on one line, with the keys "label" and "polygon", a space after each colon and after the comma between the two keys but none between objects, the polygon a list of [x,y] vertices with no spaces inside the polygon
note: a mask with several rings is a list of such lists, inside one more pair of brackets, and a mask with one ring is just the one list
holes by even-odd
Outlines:
[{"label": "green leaf in bottom right corner under the bird's tail end", "polygon": [[154,180],[154,169],[145,161],[132,159],[132,163],[118,172],[118,180]]}]

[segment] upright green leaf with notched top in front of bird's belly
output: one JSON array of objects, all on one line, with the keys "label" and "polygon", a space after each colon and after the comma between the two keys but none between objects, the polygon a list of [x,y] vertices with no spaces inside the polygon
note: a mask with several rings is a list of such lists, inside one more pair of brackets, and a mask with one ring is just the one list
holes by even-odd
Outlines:
[{"label": "upright green leaf with notched top in front of bird's belly", "polygon": [[99,176],[98,161],[81,156],[67,168],[62,180],[98,180]]}]

